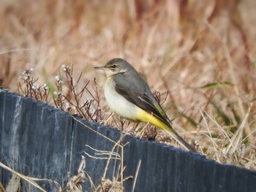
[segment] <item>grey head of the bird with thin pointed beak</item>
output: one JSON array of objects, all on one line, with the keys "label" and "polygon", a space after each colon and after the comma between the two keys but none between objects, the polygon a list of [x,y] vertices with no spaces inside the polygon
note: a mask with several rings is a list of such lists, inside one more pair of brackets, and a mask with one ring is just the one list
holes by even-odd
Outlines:
[{"label": "grey head of the bird with thin pointed beak", "polygon": [[107,77],[135,70],[131,64],[122,58],[113,58],[105,66],[95,66],[95,69],[103,69]]}]

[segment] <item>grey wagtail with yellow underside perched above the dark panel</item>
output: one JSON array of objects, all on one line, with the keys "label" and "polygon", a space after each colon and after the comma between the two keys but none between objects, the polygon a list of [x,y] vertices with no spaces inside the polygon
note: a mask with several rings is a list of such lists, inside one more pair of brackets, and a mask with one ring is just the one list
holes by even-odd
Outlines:
[{"label": "grey wagtail with yellow underside perched above the dark panel", "polygon": [[196,152],[173,129],[170,119],[131,64],[122,58],[113,58],[105,66],[94,68],[105,71],[105,99],[113,112],[128,120],[151,123],[167,131],[187,150]]}]

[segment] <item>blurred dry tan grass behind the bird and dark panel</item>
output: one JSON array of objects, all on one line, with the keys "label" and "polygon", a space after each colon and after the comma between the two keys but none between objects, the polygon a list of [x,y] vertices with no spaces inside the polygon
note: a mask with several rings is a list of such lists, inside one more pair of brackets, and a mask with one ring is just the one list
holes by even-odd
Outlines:
[{"label": "blurred dry tan grass behind the bird and dark panel", "polygon": [[[87,109],[90,120],[176,145],[158,129],[111,115],[105,77],[93,66],[125,58],[159,91],[176,130],[200,153],[256,169],[255,7],[254,0],[1,1],[0,85],[24,91],[18,77],[33,68],[39,90],[50,88],[50,104],[80,115]],[[73,88],[63,64],[72,66]]]}]

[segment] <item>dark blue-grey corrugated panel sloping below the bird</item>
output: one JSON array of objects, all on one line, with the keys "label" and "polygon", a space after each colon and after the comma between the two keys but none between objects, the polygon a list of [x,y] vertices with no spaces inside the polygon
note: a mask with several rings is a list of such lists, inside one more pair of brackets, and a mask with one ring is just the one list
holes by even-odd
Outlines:
[{"label": "dark blue-grey corrugated panel sloping below the bird", "polygon": [[[74,117],[114,141],[120,138],[116,129]],[[69,179],[77,174],[84,152],[99,156],[100,150],[110,152],[115,147],[109,139],[77,120],[48,104],[2,91],[1,162],[22,174],[53,179],[61,186],[67,185]],[[125,191],[132,191],[133,186],[134,191],[255,191],[255,172],[218,164],[202,155],[157,142],[125,136],[123,143],[126,144],[124,178],[133,177],[124,182]],[[114,151],[121,154],[120,147],[115,147]],[[120,173],[120,161],[112,159],[108,162],[107,159],[86,156],[86,172],[94,180],[94,185],[99,185],[107,164],[106,177],[113,180]],[[10,172],[0,169],[1,183],[7,185],[10,177]],[[40,182],[39,185],[48,191],[57,191],[49,183]],[[89,180],[83,188],[91,191]],[[23,182],[23,191],[28,190],[37,191]]]}]

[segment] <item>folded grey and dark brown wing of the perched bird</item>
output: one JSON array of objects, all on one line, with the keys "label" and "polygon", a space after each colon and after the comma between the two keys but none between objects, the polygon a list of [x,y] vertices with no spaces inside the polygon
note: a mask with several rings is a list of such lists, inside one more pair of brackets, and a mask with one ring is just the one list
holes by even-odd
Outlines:
[{"label": "folded grey and dark brown wing of the perched bird", "polygon": [[146,82],[137,72],[127,72],[125,75],[116,74],[114,78],[116,78],[115,88],[117,93],[146,112],[161,119],[167,125],[170,125],[167,122],[168,118],[165,112],[154,98]]}]

